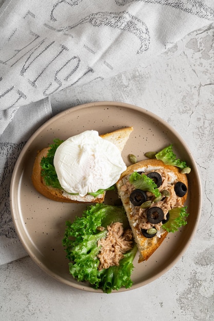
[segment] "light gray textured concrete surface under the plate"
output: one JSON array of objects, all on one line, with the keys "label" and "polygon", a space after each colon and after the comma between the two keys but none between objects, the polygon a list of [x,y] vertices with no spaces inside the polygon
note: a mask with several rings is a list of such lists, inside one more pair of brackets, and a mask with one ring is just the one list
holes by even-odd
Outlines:
[{"label": "light gray textured concrete surface under the plate", "polygon": [[2,320],[214,320],[214,25],[194,31],[147,67],[51,97],[53,113],[93,101],[121,101],[162,117],[198,164],[203,208],[183,257],[154,282],[97,294],[56,282],[25,257],[0,267]]}]

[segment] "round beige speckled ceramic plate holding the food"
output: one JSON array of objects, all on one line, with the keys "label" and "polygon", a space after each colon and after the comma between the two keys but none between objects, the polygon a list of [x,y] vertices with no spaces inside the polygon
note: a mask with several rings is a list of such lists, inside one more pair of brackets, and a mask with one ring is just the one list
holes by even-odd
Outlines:
[{"label": "round beige speckled ceramic plate holding the food", "polygon": [[[66,139],[90,129],[104,134],[128,126],[134,129],[122,153],[127,166],[130,165],[130,153],[142,160],[145,152],[159,151],[173,144],[173,151],[191,167],[186,202],[188,224],[176,233],[169,233],[147,262],[139,264],[138,255],[135,257],[131,289],[148,284],[171,268],[184,254],[196,232],[201,212],[196,163],[183,139],[166,122],[140,107],[115,102],[86,104],[61,112],[38,129],[22,150],[13,172],[10,198],[14,225],[29,255],[49,275],[74,288],[99,292],[89,284],[73,279],[62,246],[66,220],[72,221],[76,215],[81,215],[86,204],[58,203],[36,192],[31,183],[36,152],[52,144],[54,138]],[[116,193],[108,192],[105,203],[114,204],[116,198]]]}]

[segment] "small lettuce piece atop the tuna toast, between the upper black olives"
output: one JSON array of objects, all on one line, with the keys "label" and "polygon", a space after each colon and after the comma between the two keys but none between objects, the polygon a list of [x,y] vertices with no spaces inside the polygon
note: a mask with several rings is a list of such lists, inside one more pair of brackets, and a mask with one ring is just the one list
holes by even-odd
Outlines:
[{"label": "small lettuce piece atop the tuna toast, between the upper black olives", "polygon": [[152,194],[154,194],[155,197],[158,197],[161,195],[153,179],[151,179],[145,174],[139,174],[138,172],[133,172],[129,177],[129,182],[136,189],[141,189],[142,191],[145,191],[145,192],[151,192]]}]

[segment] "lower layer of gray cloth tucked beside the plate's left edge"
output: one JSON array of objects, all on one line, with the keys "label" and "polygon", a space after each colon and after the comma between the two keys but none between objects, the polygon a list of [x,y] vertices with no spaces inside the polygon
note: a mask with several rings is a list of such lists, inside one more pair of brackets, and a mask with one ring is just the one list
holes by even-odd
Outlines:
[{"label": "lower layer of gray cloth tucked beside the plate's left edge", "polygon": [[17,110],[0,136],[0,265],[27,255],[17,237],[10,213],[10,180],[18,155],[28,138],[52,115],[49,98]]}]

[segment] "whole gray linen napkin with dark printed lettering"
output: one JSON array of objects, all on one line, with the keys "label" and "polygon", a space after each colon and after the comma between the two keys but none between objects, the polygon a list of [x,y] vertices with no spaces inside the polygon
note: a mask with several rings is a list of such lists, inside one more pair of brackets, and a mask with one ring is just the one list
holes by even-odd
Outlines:
[{"label": "whole gray linen napkin with dark printed lettering", "polygon": [[[51,116],[48,97],[111,77],[214,21],[213,0],[0,0],[0,264],[26,254],[9,182],[26,140]],[[27,119],[27,122],[24,121]],[[30,121],[29,121],[30,119]]]}]

